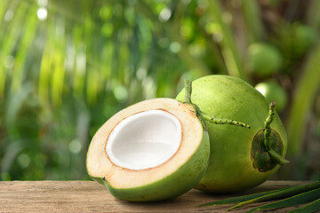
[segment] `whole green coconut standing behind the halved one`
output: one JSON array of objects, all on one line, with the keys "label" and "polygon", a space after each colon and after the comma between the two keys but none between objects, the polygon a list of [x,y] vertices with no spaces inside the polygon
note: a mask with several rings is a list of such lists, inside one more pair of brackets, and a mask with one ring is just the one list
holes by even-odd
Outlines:
[{"label": "whole green coconut standing behind the halved one", "polygon": [[[185,89],[177,99],[184,101]],[[244,191],[266,181],[279,169],[279,163],[285,163],[284,126],[272,110],[274,105],[269,107],[250,84],[227,75],[205,76],[192,83],[191,100],[204,114],[251,126],[245,129],[206,123],[210,162],[197,189],[211,193]],[[269,138],[265,139],[265,133]]]}]

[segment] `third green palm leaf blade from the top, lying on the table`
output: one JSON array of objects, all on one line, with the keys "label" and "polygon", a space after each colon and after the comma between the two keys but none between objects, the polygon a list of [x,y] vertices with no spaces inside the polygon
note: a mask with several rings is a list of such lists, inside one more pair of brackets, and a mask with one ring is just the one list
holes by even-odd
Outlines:
[{"label": "third green palm leaf blade from the top, lying on the table", "polygon": [[302,203],[307,203],[310,201],[315,201],[316,199],[319,199],[319,198],[320,198],[320,188],[317,188],[307,193],[300,193],[298,195],[292,196],[282,201],[268,203],[266,205],[254,208],[248,212],[256,212],[260,210],[269,210],[269,209],[280,209],[284,207],[290,207],[293,205],[300,205]]}]

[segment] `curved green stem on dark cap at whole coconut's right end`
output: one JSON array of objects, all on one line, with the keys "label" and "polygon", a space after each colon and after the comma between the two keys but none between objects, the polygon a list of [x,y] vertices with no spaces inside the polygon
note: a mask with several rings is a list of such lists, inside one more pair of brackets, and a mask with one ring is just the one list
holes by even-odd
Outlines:
[{"label": "curved green stem on dark cap at whole coconut's right end", "polygon": [[285,163],[288,163],[286,159],[284,159],[283,156],[280,154],[277,154],[271,147],[271,141],[270,141],[270,135],[271,135],[271,122],[273,122],[276,114],[276,102],[272,101],[270,106],[269,106],[269,112],[268,112],[268,117],[265,122],[265,131],[264,131],[264,145],[266,147],[266,150],[270,156],[270,158],[279,163],[280,165],[284,165]]}]

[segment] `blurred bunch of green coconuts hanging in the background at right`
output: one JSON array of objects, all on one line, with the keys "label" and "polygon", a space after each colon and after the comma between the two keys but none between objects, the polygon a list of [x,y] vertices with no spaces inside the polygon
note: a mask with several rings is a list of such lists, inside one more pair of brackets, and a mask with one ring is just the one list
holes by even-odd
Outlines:
[{"label": "blurred bunch of green coconuts hanging in the background at right", "polygon": [[251,43],[247,47],[246,67],[255,88],[268,100],[276,102],[276,111],[284,113],[292,91],[293,68],[316,43],[316,31],[298,21],[281,21],[274,27],[268,42]]}]

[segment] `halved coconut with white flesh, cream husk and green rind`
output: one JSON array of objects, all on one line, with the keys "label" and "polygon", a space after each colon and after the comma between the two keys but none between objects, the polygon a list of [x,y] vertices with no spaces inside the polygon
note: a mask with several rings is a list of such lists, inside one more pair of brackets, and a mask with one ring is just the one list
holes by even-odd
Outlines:
[{"label": "halved coconut with white flesh, cream husk and green rind", "polygon": [[208,166],[209,138],[194,106],[150,99],[111,117],[92,138],[88,174],[127,201],[161,201],[195,186]]}]

